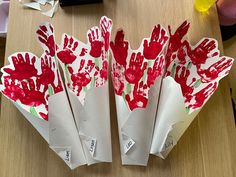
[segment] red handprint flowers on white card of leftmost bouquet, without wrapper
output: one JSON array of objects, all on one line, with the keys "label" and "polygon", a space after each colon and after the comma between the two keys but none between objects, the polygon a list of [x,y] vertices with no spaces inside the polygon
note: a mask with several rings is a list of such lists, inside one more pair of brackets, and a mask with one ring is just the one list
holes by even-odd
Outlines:
[{"label": "red handprint flowers on white card of leftmost bouquet, without wrapper", "polygon": [[63,90],[55,63],[55,40],[49,23],[40,25],[37,36],[44,49],[38,58],[30,52],[11,55],[2,68],[1,92],[23,109],[48,120],[48,97]]}]

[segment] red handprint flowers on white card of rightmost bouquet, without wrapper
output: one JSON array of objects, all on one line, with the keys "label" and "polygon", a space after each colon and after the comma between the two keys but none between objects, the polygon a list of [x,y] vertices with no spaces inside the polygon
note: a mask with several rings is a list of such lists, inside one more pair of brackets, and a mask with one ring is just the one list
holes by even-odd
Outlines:
[{"label": "red handprint flowers on white card of rightmost bouquet, without wrapper", "polygon": [[183,40],[188,28],[184,22],[174,35],[170,34],[165,57],[166,76],[173,76],[180,84],[185,105],[191,113],[201,108],[214,93],[219,80],[229,73],[233,59],[219,56],[217,41],[214,39],[204,38],[192,47],[188,41]]}]

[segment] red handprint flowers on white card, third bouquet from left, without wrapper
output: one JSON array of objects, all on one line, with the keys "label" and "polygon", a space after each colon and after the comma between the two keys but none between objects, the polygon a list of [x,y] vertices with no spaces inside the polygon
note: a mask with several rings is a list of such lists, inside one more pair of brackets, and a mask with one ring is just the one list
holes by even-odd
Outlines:
[{"label": "red handprint flowers on white card, third bouquet from left, without wrapper", "polygon": [[157,25],[138,50],[130,48],[122,30],[110,43],[114,90],[116,95],[123,96],[131,111],[147,106],[150,88],[164,72],[162,54],[167,41],[165,29]]}]

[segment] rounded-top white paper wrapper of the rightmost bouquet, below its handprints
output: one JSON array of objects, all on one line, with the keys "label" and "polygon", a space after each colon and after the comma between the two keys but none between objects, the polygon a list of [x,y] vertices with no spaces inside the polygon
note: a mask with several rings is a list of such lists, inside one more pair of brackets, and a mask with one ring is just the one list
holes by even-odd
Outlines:
[{"label": "rounded-top white paper wrapper of the rightmost bouquet, below its handprints", "polygon": [[199,111],[188,114],[180,85],[170,76],[164,78],[150,153],[165,158]]}]

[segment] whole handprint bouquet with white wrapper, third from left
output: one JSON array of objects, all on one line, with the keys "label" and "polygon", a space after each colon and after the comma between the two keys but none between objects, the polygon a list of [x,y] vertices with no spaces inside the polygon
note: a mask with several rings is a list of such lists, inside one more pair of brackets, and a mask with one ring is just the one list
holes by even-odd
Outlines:
[{"label": "whole handprint bouquet with white wrapper, third from left", "polygon": [[165,29],[157,25],[137,50],[130,48],[122,30],[110,44],[124,165],[147,165],[164,71],[162,53],[167,41]]}]

